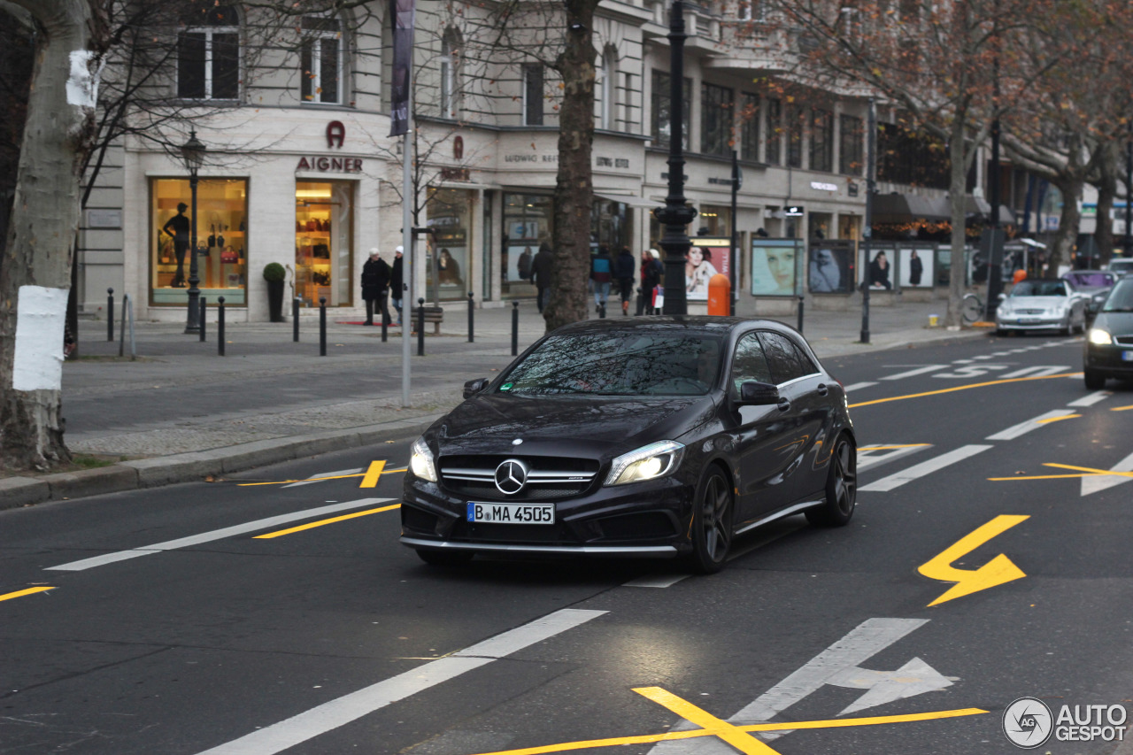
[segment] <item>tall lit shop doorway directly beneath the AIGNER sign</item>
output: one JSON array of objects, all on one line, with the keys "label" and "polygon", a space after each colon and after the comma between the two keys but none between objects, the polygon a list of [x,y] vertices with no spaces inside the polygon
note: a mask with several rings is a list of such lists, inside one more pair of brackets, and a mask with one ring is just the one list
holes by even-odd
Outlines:
[{"label": "tall lit shop doorway directly beneath the AIGNER sign", "polygon": [[353,183],[296,181],[295,295],[303,306],[353,304]]}]

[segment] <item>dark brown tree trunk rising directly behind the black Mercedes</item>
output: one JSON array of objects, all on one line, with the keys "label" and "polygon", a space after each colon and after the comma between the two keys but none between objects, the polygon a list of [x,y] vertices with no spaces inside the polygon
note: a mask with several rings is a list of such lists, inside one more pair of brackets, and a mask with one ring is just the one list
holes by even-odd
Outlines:
[{"label": "dark brown tree trunk rising directly behind the black Mercedes", "polygon": [[547,331],[585,320],[590,273],[590,207],[594,203],[594,63],[591,37],[598,0],[565,0],[565,46],[556,69],[562,76],[559,111],[559,175],[555,181],[555,227],[551,297],[543,319]]}]

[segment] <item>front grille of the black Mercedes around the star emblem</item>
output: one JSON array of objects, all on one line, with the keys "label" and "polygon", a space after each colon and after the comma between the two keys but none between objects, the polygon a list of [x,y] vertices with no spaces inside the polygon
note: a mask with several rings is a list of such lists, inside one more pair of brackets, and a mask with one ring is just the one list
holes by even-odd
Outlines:
[{"label": "front grille of the black Mercedes around the star emblem", "polygon": [[[527,484],[514,495],[495,486],[495,470],[508,459],[528,467]],[[441,458],[441,484],[469,500],[542,501],[570,498],[586,491],[598,474],[594,459],[542,456],[449,456]]]}]

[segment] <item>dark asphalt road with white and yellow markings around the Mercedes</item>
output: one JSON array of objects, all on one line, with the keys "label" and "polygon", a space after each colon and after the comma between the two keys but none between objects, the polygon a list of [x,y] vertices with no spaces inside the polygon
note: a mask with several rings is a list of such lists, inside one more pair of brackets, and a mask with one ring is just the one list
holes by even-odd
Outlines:
[{"label": "dark asphalt road with white and yellow markings around the Mercedes", "polygon": [[1133,487],[1099,470],[1133,469],[1133,390],[1065,376],[1060,337],[827,367],[853,521],[783,520],[712,577],[428,567],[397,542],[406,441],[0,512],[0,597],[50,587],[0,601],[0,753],[965,755],[1015,752],[1021,697],[1128,709]]}]

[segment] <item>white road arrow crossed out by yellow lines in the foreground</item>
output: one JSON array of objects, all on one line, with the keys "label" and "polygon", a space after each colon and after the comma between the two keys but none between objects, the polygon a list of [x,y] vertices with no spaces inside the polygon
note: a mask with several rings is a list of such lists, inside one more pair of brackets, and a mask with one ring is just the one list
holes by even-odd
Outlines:
[{"label": "white road arrow crossed out by yellow lines in the foreground", "polygon": [[[826,685],[866,689],[855,703],[838,715],[949,687],[952,679],[917,658],[897,671],[872,671],[859,667],[926,623],[928,619],[868,619],[727,721],[741,726],[770,721]],[[682,721],[674,730],[691,728],[692,724]],[[785,733],[790,732],[761,732],[760,738],[770,740]],[[719,745],[714,738],[705,737],[661,743],[649,752],[655,755],[716,755],[732,749]]]}]

